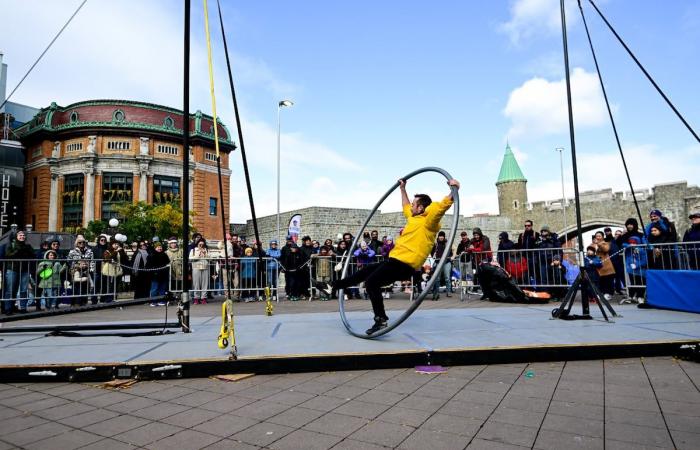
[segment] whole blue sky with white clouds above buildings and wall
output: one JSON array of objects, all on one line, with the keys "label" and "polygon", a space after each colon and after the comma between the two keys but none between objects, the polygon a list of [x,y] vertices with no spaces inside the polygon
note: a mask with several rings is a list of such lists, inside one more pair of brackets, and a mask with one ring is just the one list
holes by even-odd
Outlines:
[{"label": "whole blue sky with white clouds above buildings and wall", "polygon": [[[13,100],[180,107],[181,3],[89,0]],[[507,140],[531,201],[560,193],[556,147],[566,148],[573,193],[558,1],[223,3],[259,215],[276,211],[277,102],[286,98],[295,105],[282,111],[283,211],[370,208],[397,177],[435,165],[462,181],[464,213],[497,213]],[[698,184],[700,145],[582,3],[635,187]],[[78,4],[0,0],[8,91]],[[700,130],[700,2],[597,4]],[[626,189],[578,8],[567,5],[581,188]],[[192,109],[210,112],[202,3],[192,8]],[[218,25],[213,39],[218,109],[233,130]],[[231,217],[240,222],[250,213],[239,154],[231,169]],[[441,195],[441,183],[425,176],[409,191]],[[382,209],[398,204],[390,197]]]}]

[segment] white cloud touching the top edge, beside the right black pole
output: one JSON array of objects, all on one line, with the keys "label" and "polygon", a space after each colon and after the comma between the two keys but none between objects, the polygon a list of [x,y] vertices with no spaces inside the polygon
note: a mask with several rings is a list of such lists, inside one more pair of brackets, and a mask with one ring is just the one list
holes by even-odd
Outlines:
[{"label": "white cloud touching the top edge, beside the right black pole", "polygon": [[514,45],[537,35],[560,32],[559,8],[558,0],[516,0],[510,7],[510,20],[502,23],[499,30],[506,33]]}]

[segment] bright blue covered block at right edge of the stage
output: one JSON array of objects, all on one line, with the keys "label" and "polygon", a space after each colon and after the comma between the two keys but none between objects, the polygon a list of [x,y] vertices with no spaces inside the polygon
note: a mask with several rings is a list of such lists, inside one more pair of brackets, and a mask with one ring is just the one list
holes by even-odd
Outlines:
[{"label": "bright blue covered block at right edge of the stage", "polygon": [[656,308],[700,313],[700,271],[648,270],[647,302]]}]

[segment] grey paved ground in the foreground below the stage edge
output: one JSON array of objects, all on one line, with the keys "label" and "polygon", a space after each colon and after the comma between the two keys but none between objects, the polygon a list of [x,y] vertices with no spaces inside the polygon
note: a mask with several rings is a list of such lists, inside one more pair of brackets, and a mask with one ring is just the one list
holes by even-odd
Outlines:
[{"label": "grey paved ground in the foreground below the stage edge", "polygon": [[0,449],[697,449],[698,386],[670,357],[0,384]]}]

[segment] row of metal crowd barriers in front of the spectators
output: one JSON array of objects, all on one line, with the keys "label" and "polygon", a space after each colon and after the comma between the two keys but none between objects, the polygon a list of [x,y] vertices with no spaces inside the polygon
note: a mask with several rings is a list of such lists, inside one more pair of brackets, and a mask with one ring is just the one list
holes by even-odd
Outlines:
[{"label": "row of metal crowd barriers in front of the spectators", "polygon": [[[366,264],[381,261],[351,256],[349,274]],[[479,264],[497,261],[521,288],[548,291],[561,298],[578,275],[579,253],[573,249],[532,249],[490,252],[465,252],[456,255],[441,274],[437,286],[459,289],[460,297],[473,292],[479,285]],[[615,261],[618,258],[620,263]],[[123,258],[122,258],[123,259]],[[263,300],[265,286],[279,301],[284,292],[288,299],[302,297],[326,299],[319,289],[332,284],[340,276],[342,258],[314,255],[299,267],[282,267],[274,258],[229,258],[230,277],[225,277],[223,257],[191,260],[191,278],[183,279],[181,260],[163,267],[142,265],[134,267],[126,260],[102,259],[0,259],[1,312],[9,314],[27,309],[65,309],[110,303],[120,300],[148,299],[166,292],[179,294],[189,289],[191,298],[201,300],[225,296],[230,290],[235,300]],[[626,245],[609,255],[615,272],[624,282],[628,298],[643,298],[648,270],[700,270],[700,242]],[[384,295],[404,291],[412,299],[430,277],[432,260],[411,280],[387,286]],[[602,278],[602,277],[601,277]],[[601,281],[602,284],[602,281]],[[605,290],[605,289],[604,289]],[[335,295],[335,294],[334,294]],[[349,298],[365,298],[362,286],[346,290]]]}]

